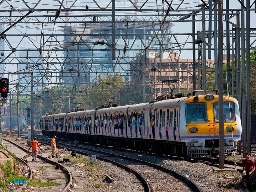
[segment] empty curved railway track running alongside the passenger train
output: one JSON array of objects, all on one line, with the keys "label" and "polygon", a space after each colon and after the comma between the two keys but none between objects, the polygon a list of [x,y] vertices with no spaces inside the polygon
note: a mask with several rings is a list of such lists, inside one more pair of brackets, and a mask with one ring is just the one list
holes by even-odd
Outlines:
[{"label": "empty curved railway track running alongside the passenger train", "polygon": [[[42,143],[43,138],[38,139]],[[47,139],[44,139],[44,141],[47,143]],[[143,182],[144,186],[149,187],[144,187],[145,191],[162,191],[162,189],[165,187],[171,190],[169,183],[172,183],[172,188],[174,188],[175,191],[202,191],[201,188],[198,187],[193,181],[174,170],[153,164],[148,161],[129,158],[127,155],[118,155],[114,150],[114,152],[110,153],[103,151],[102,148],[99,147],[85,147],[84,144],[79,145],[74,144],[74,142],[65,143],[64,140],[57,141],[57,145],[58,147],[76,151],[76,153],[83,155],[93,153],[97,155],[97,159],[99,160],[111,162],[117,166],[123,167],[130,172],[133,172]],[[159,177],[165,178],[162,180],[164,183],[159,182]]]}]

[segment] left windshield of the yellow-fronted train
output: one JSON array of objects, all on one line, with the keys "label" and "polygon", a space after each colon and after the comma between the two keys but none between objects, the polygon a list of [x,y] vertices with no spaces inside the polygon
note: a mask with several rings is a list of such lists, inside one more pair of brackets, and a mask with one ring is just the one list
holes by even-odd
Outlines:
[{"label": "left windshield of the yellow-fronted train", "polygon": [[207,122],[206,103],[186,103],[186,121],[193,122]]}]

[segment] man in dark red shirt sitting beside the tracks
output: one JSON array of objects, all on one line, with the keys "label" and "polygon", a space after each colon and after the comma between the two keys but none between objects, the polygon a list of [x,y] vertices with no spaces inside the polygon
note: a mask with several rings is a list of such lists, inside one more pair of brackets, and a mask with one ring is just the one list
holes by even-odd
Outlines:
[{"label": "man in dark red shirt sitting beside the tracks", "polygon": [[252,173],[255,171],[255,162],[251,158],[251,153],[246,153],[246,159],[242,160],[242,171],[246,178],[247,185],[249,188],[251,187],[249,179],[252,175]]}]

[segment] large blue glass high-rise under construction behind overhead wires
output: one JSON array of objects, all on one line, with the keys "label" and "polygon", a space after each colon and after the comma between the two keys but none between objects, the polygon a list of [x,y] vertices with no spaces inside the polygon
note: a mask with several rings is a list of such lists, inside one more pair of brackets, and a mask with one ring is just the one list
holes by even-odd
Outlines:
[{"label": "large blue glass high-rise under construction behind overhead wires", "polygon": [[[99,77],[118,73],[130,81],[130,62],[148,46],[155,31],[170,33],[172,25],[154,26],[151,22],[116,25],[116,60],[112,60],[112,23],[86,23],[64,27],[64,66],[62,80],[67,84],[96,82]],[[138,37],[139,35],[139,37]],[[167,35],[162,43],[170,43]],[[97,42],[97,43],[96,43]],[[154,43],[151,42],[151,46]],[[129,50],[124,54],[124,46]],[[150,48],[150,47],[149,47]],[[152,48],[152,47],[151,47]],[[159,45],[154,46],[159,48]],[[165,54],[162,54],[165,55]],[[167,54],[166,54],[167,55]]]}]

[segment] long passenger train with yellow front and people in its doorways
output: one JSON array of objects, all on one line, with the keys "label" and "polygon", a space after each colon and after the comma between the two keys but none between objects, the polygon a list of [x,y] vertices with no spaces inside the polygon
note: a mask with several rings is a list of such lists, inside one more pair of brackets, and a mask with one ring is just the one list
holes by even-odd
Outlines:
[{"label": "long passenger train with yellow front and people in its doorways", "polygon": [[[241,140],[238,101],[224,96],[224,154],[237,153]],[[188,158],[218,157],[217,90],[176,94],[172,99],[111,106],[41,117],[44,135],[79,142]]]}]

